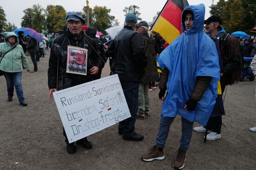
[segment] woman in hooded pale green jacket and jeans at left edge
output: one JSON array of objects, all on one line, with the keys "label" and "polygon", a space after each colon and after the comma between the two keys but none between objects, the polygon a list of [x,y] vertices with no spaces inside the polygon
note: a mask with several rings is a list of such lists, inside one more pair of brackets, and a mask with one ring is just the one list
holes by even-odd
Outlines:
[{"label": "woman in hooded pale green jacket and jeans at left edge", "polygon": [[21,85],[23,70],[22,62],[27,68],[28,72],[30,66],[21,45],[19,45],[19,38],[14,32],[8,32],[7,36],[5,37],[5,43],[0,44],[0,57],[0,70],[3,71],[7,82],[8,101],[13,101],[13,91],[15,87],[20,105],[27,106]]}]

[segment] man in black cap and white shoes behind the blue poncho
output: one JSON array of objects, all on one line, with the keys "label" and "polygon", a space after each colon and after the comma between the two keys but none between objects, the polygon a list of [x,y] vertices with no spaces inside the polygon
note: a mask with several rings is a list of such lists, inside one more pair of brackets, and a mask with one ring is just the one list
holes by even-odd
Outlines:
[{"label": "man in black cap and white shoes behind the blue poncho", "polygon": [[[238,39],[224,30],[222,19],[218,15],[212,15],[204,21],[205,32],[211,38],[220,40],[220,56],[223,63],[223,74],[221,75],[221,94],[223,94],[227,85],[233,85],[239,82],[242,71],[242,55]],[[223,104],[216,106],[209,118],[207,126],[195,127],[195,132],[205,132],[206,127],[211,130],[206,139],[221,139],[222,115],[224,115]]]}]

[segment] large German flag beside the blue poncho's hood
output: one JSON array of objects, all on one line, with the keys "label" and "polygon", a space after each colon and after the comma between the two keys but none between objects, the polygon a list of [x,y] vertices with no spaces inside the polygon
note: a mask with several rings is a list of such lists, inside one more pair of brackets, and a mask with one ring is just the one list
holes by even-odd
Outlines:
[{"label": "large German flag beside the blue poncho's hood", "polygon": [[152,30],[158,32],[169,44],[182,34],[182,11],[189,6],[187,0],[167,0]]}]

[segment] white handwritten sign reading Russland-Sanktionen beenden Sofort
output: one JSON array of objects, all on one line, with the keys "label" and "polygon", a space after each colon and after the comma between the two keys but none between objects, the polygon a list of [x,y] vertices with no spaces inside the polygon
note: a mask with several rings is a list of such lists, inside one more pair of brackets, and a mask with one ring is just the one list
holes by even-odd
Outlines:
[{"label": "white handwritten sign reading Russland-Sanktionen beenden Sofort", "polygon": [[69,143],[131,117],[117,75],[53,93]]}]

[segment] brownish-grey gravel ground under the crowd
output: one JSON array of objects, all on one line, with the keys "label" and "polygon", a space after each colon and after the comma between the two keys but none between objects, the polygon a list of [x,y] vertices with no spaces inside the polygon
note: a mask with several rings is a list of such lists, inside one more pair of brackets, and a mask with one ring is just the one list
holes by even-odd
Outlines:
[{"label": "brownish-grey gravel ground under the crowd", "polygon": [[[23,71],[22,86],[27,107],[7,101],[6,81],[0,77],[0,170],[167,170],[179,148],[181,119],[171,125],[162,161],[143,162],[141,154],[155,145],[161,101],[159,89],[149,92],[150,115],[137,120],[136,132],[144,135],[141,142],[124,141],[117,125],[88,137],[93,149],[80,145],[75,154],[66,152],[62,123],[54,100],[48,98],[47,68],[49,55],[40,58],[38,73]],[[33,64],[28,57],[29,63]],[[108,64],[102,76],[108,76]],[[226,115],[222,139],[203,143],[202,133],[193,133],[184,170],[255,170],[256,126],[255,83],[245,80],[228,86],[224,107]],[[198,126],[197,123],[194,127]]]}]

